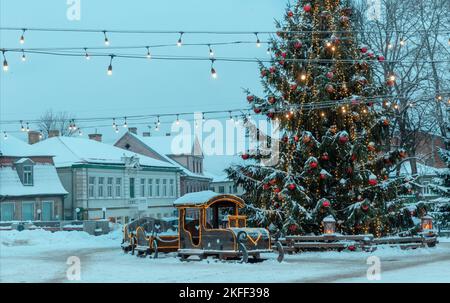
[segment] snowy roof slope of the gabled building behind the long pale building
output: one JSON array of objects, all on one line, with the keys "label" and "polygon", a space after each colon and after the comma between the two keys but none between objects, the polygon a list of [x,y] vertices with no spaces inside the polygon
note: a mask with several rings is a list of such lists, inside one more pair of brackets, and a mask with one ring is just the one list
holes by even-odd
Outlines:
[{"label": "snowy roof slope of the gabled building behind the long pale building", "polygon": [[[177,161],[173,160],[172,158],[170,158],[168,155],[177,155],[177,154],[183,154],[183,150],[180,149],[171,149],[171,142],[173,137],[170,136],[160,136],[160,137],[143,137],[143,136],[139,136],[133,133],[128,133],[131,136],[135,137],[136,139],[138,139],[139,141],[141,141],[143,144],[145,144],[148,148],[152,149],[153,151],[155,151],[157,154],[159,154],[162,158],[164,158],[164,160],[166,160],[167,162],[169,162],[170,164],[172,164],[173,166],[178,167],[179,169],[181,169],[183,171],[183,173],[188,176],[188,177],[195,177],[195,178],[206,178],[206,179],[210,179],[208,176],[205,175],[201,175],[201,174],[196,174],[192,171],[190,171],[189,169],[187,169],[186,167],[184,167],[183,165],[181,165],[180,163],[178,163]],[[198,142],[198,141],[197,141]],[[175,153],[174,153],[175,151]],[[164,153],[164,152],[168,152],[168,153]],[[190,152],[189,152],[190,153]]]}]

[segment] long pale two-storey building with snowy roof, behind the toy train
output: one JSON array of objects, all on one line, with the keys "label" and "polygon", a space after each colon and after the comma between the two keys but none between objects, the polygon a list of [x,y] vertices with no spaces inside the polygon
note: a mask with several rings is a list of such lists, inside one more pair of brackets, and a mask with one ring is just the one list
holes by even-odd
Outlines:
[{"label": "long pale two-storey building with snowy roof, behind the toy train", "polygon": [[174,214],[180,169],[91,139],[56,136],[34,146],[52,152],[68,195],[64,219],[110,219],[126,223],[140,216]]}]

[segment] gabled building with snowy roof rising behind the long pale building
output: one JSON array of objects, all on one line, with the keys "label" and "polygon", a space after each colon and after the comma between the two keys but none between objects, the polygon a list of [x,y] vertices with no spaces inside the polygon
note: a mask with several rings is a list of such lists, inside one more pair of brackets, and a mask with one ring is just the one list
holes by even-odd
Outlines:
[{"label": "gabled building with snowy roof rising behind the long pale building", "polygon": [[171,136],[140,136],[135,129],[130,129],[114,145],[178,167],[181,170],[180,196],[208,190],[212,179],[204,174],[203,153],[198,140],[194,139],[184,148],[174,143]]}]

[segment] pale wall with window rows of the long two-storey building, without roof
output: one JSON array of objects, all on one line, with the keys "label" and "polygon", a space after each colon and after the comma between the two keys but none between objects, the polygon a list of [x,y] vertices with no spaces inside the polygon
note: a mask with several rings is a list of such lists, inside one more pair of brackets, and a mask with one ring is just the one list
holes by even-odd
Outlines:
[{"label": "pale wall with window rows of the long two-storey building, without roof", "polygon": [[[173,216],[175,211],[173,202],[180,195],[180,178],[176,171],[144,168],[141,170],[129,169],[123,166],[83,166],[68,169],[59,169],[61,179],[67,191],[70,193],[71,201],[67,201],[67,219],[76,218],[76,209],[82,210],[83,219],[103,218],[103,208],[106,208],[106,218],[118,221],[130,220],[138,216],[150,215],[154,217]],[[90,179],[94,178],[94,179]],[[99,183],[103,178],[103,185]],[[108,178],[112,178],[112,186],[108,185]],[[134,198],[130,192],[130,178],[134,178]],[[116,183],[120,181],[120,186]],[[142,194],[141,179],[144,180]],[[73,184],[69,184],[73,180]],[[94,184],[90,184],[90,180]],[[152,180],[151,192],[149,180]],[[156,188],[159,180],[159,195]],[[164,181],[166,180],[166,192],[164,194]],[[171,181],[173,187],[171,186]],[[73,187],[72,187],[73,186]],[[102,190],[99,188],[102,187]],[[108,190],[108,188],[111,188]],[[119,189],[120,195],[117,190]],[[171,190],[173,188],[173,192]],[[93,192],[92,192],[93,191]],[[112,196],[110,196],[112,193]],[[93,195],[92,195],[93,194]],[[145,210],[139,209],[145,205]]]}]

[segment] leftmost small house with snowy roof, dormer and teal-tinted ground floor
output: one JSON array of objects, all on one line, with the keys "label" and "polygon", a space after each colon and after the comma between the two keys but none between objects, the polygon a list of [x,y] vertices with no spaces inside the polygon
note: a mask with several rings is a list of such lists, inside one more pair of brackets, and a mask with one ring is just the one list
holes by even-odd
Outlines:
[{"label": "leftmost small house with snowy roof, dormer and teal-tinted ground floor", "polygon": [[13,136],[0,140],[0,221],[62,220],[68,192],[53,157]]}]

